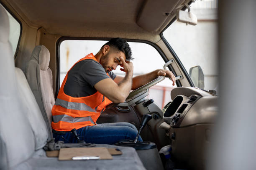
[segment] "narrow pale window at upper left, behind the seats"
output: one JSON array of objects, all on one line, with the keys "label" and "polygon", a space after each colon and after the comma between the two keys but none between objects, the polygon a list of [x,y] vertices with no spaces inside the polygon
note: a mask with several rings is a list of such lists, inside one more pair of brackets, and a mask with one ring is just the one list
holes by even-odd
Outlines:
[{"label": "narrow pale window at upper left, behind the seats", "polygon": [[12,50],[14,55],[18,46],[19,38],[20,38],[20,23],[18,23],[18,21],[15,18],[13,18],[13,16],[10,15],[10,13],[7,10],[6,12],[8,14],[8,18],[10,21],[9,41],[10,41],[10,44],[12,45]]}]

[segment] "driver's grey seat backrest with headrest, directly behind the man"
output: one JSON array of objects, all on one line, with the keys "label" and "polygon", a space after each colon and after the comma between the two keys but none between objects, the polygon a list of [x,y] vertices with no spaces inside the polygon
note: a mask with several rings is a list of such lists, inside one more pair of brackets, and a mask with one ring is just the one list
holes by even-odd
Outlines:
[{"label": "driver's grey seat backrest with headrest, directly behind the man", "polygon": [[44,45],[34,48],[31,58],[25,69],[28,84],[36,97],[46,125],[48,126],[49,138],[53,138],[51,131],[51,109],[54,106],[54,92],[52,72],[49,68],[50,52]]}]

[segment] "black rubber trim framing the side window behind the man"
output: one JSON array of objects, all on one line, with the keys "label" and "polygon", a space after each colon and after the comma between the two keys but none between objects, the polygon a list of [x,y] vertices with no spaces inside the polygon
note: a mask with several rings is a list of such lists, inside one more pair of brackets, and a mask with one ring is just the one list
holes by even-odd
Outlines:
[{"label": "black rubber trim framing the side window behind the man", "polygon": [[[56,42],[56,67],[57,67],[57,71],[56,71],[56,90],[55,90],[55,98],[57,98],[58,92],[59,92],[59,88],[60,88],[60,45],[61,42],[63,42],[64,40],[105,40],[105,41],[109,41],[111,38],[102,38],[102,37],[60,37],[57,42]],[[142,42],[148,45],[151,45],[152,47],[154,47],[156,49],[157,52],[159,52],[159,54],[161,55],[162,59],[164,60],[164,62],[169,61],[168,58],[166,57],[166,55],[164,54],[164,52],[160,49],[160,47],[156,44],[154,44],[153,42],[147,41],[147,40],[136,40],[136,39],[126,39],[127,42]],[[175,76],[177,76],[177,73],[174,71],[172,65],[168,66],[169,70],[171,70]],[[182,86],[179,80],[176,80],[176,84],[177,87]]]}]

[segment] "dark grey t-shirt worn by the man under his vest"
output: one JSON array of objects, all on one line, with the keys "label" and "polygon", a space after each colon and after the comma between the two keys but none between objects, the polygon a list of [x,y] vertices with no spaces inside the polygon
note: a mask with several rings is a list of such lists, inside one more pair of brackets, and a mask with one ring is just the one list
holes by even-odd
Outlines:
[{"label": "dark grey t-shirt worn by the man under his vest", "polygon": [[[113,80],[115,79],[115,73],[108,72],[108,74]],[[64,93],[72,97],[93,95],[97,92],[94,85],[110,77],[99,62],[91,59],[82,60],[69,70]]]}]

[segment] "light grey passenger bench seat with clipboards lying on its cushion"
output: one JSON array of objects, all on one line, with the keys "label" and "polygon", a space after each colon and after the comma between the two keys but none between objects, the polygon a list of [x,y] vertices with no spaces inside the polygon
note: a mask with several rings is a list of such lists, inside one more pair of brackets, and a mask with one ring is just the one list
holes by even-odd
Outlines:
[{"label": "light grey passenger bench seat with clipboards lying on its cushion", "polygon": [[145,170],[136,151],[118,148],[123,154],[113,160],[59,161],[42,149],[48,133],[44,117],[24,73],[14,66],[9,42],[9,20],[0,5],[0,169],[1,170]]}]

